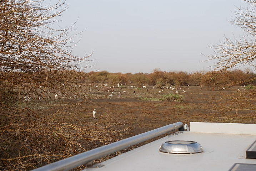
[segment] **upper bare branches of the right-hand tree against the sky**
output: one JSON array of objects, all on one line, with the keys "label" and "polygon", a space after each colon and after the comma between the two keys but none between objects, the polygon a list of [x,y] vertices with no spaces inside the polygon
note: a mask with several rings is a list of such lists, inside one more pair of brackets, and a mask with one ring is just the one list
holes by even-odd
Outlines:
[{"label": "upper bare branches of the right-hand tree against the sky", "polygon": [[249,65],[256,68],[256,1],[244,0],[247,7],[237,7],[231,23],[244,31],[242,38],[231,40],[224,37],[219,45],[211,46],[214,54],[209,56],[216,62],[215,70],[225,71],[234,67]]}]

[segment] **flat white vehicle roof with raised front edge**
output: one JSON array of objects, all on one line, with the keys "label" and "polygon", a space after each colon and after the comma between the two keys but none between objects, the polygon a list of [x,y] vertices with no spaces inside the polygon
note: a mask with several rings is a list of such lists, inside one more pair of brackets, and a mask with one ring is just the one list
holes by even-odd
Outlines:
[{"label": "flat white vehicle roof with raised front edge", "polygon": [[[204,149],[196,154],[167,154],[159,151],[166,141],[196,141]],[[190,131],[179,131],[113,157],[100,168],[86,171],[141,170],[229,170],[235,163],[256,164],[245,150],[256,140],[256,124],[190,123]]]}]

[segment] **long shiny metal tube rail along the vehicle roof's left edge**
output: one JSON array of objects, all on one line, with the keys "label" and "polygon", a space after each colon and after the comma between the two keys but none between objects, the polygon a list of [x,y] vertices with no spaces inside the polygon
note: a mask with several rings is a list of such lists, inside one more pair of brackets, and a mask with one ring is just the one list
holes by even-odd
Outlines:
[{"label": "long shiny metal tube rail along the vehicle roof's left edge", "polygon": [[174,131],[176,129],[179,129],[179,131],[183,131],[183,123],[176,122],[174,124],[166,125],[161,128],[147,131],[146,133],[142,133],[139,135],[132,136],[130,138],[116,141],[111,144],[104,145],[96,149],[82,152],[75,156],[71,156],[69,158],[51,163],[49,165],[39,167],[37,169],[34,169],[33,171],[68,171],[70,169],[74,169],[75,167],[85,165],[93,160],[99,159],[100,157],[104,157],[114,152],[123,150],[127,147],[139,144],[140,142],[144,142],[146,140],[155,138],[165,133],[169,133],[170,131]]}]

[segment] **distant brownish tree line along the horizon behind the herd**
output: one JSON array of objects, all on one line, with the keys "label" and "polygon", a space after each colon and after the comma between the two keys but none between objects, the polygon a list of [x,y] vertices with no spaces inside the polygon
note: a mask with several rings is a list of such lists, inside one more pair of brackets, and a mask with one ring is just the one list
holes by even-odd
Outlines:
[{"label": "distant brownish tree line along the horizon behind the herd", "polygon": [[250,69],[233,69],[230,71],[199,71],[188,73],[184,71],[161,71],[155,68],[151,73],[110,73],[107,71],[89,72],[86,77],[80,79],[80,83],[108,83],[142,86],[255,86],[256,74]]}]

